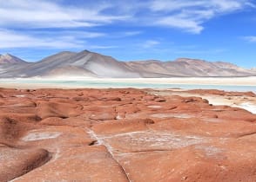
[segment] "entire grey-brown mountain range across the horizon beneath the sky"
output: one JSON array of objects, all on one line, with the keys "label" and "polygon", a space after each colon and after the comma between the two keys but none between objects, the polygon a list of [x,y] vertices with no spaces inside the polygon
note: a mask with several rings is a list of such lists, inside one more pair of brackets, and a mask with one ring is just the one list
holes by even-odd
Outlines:
[{"label": "entire grey-brown mountain range across the horizon beneath the sky", "polygon": [[253,76],[255,68],[246,69],[228,62],[179,58],[175,61],[158,60],[120,62],[111,56],[88,50],[64,51],[39,62],[25,62],[14,55],[0,55],[0,78],[28,77],[205,77]]}]

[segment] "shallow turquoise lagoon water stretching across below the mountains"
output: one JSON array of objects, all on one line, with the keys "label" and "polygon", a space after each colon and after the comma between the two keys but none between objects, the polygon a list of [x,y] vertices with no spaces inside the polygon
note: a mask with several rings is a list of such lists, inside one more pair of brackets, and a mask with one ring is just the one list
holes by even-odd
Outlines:
[{"label": "shallow turquoise lagoon water stretching across below the mountains", "polygon": [[64,80],[46,80],[46,79],[4,79],[0,80],[0,83],[6,84],[30,84],[39,86],[44,85],[49,88],[182,88],[182,89],[220,89],[226,91],[253,91],[256,93],[256,86],[243,86],[243,85],[216,85],[216,84],[177,84],[171,81],[124,81],[122,79],[116,80],[104,80],[104,79],[92,79],[92,80],[77,80],[77,81],[64,81]]}]

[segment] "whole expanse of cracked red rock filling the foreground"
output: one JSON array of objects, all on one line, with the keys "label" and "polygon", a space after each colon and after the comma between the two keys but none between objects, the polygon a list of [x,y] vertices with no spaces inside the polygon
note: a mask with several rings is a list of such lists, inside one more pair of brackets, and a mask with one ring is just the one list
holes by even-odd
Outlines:
[{"label": "whole expanse of cracked red rock filling the foreground", "polygon": [[0,181],[256,181],[255,114],[159,92],[0,88]]}]

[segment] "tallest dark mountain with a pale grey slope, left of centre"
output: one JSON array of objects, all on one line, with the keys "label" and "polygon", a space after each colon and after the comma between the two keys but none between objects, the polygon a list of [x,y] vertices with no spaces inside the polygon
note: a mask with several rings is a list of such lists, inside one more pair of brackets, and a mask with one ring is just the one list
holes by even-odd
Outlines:
[{"label": "tallest dark mountain with a pale grey slope, left of centre", "polygon": [[[79,70],[79,71],[77,71]],[[82,74],[83,73],[83,74]],[[84,50],[79,53],[61,52],[44,58],[17,70],[17,75],[33,76],[97,76],[97,77],[139,77],[124,62],[114,58]]]}]

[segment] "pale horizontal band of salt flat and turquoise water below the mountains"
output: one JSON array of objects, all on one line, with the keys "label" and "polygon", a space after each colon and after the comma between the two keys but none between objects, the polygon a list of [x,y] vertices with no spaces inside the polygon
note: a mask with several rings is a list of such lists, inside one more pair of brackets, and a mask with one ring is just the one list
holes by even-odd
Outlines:
[{"label": "pale horizontal band of salt flat and turquoise water below the mountains", "polygon": [[[223,89],[227,91],[253,91],[256,77],[175,77],[175,78],[16,78],[0,79],[2,88],[182,88]],[[243,89],[243,87],[245,89]],[[250,90],[252,89],[252,90]],[[225,90],[225,89],[224,89]]]}]

